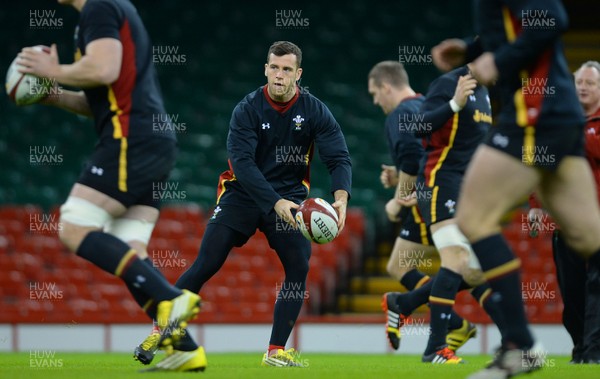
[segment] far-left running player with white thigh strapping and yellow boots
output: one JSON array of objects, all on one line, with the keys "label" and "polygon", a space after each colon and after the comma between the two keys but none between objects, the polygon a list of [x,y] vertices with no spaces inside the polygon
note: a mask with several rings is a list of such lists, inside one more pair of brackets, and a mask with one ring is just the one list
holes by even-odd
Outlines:
[{"label": "far-left running player with white thigh strapping and yellow boots", "polygon": [[[146,247],[159,215],[153,184],[175,163],[173,132],[156,133],[152,116],[165,114],[152,45],[136,9],[125,0],[61,0],[81,12],[73,64],[25,48],[22,72],[84,90],[55,91],[45,100],[94,118],[99,142],[65,204],[61,241],[78,256],[120,277],[136,302],[157,320],[156,344],[171,346],[199,310],[200,298],[173,287],[152,267]],[[158,369],[200,370],[204,350],[171,352]]]}]

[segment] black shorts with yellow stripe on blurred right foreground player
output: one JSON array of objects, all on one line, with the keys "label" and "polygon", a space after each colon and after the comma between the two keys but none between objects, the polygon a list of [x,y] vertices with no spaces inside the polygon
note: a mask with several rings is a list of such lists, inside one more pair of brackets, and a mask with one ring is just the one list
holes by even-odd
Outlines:
[{"label": "black shorts with yellow stripe on blurred right foreground player", "polygon": [[565,156],[583,157],[585,153],[583,126],[498,125],[492,127],[484,143],[524,164],[549,170],[555,170]]}]

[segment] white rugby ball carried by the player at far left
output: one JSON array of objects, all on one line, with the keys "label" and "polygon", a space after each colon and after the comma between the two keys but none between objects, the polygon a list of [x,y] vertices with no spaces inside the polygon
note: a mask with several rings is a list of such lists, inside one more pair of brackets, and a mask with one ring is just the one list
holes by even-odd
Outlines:
[{"label": "white rugby ball carried by the player at far left", "polygon": [[[34,49],[50,54],[47,46],[34,46]],[[31,74],[22,74],[23,68],[15,58],[6,72],[6,93],[17,105],[31,105],[39,102],[50,93],[52,81]]]}]

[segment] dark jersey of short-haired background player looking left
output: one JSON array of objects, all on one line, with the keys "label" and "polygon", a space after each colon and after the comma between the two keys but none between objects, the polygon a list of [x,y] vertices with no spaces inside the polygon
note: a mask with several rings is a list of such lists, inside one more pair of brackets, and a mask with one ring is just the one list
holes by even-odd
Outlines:
[{"label": "dark jersey of short-haired background player looking left", "polygon": [[424,149],[413,132],[422,125],[419,109],[425,98],[416,95],[406,98],[385,119],[385,132],[390,154],[396,169],[416,176]]}]

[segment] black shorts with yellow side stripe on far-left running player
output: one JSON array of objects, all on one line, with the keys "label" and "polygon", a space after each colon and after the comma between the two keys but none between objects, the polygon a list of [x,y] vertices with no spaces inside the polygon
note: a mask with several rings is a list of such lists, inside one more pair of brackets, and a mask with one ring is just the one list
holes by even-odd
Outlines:
[{"label": "black shorts with yellow side stripe on far-left running player", "polygon": [[[175,165],[177,141],[166,138],[103,138],[77,180],[125,207],[158,208]],[[177,183],[175,183],[177,185]],[[181,189],[180,189],[181,190]]]}]

